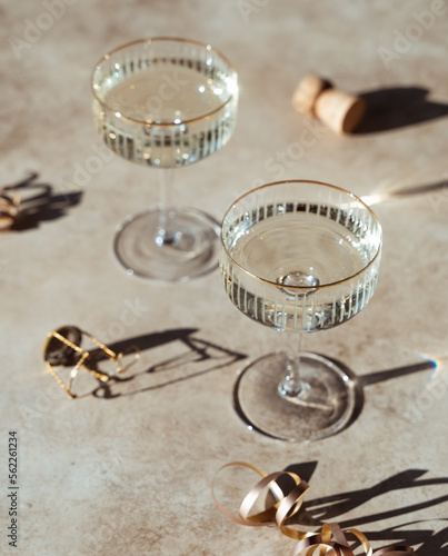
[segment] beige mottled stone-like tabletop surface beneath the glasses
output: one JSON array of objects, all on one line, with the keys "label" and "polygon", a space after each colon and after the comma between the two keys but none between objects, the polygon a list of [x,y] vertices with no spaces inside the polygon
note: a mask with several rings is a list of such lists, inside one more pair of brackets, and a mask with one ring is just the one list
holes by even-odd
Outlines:
[{"label": "beige mottled stone-like tabletop surface beneath the glasses", "polygon": [[[290,554],[293,542],[275,529],[238,526],[215,508],[212,477],[239,459],[266,471],[316,461],[307,508],[315,519],[320,500],[332,508],[327,519],[359,527],[376,547],[399,540],[421,556],[445,554],[448,7],[71,0],[56,18],[48,17],[53,1],[0,1],[1,185],[37,172],[33,183],[53,196],[81,193],[0,236],[0,553]],[[48,29],[32,34],[37,22]],[[372,301],[345,326],[306,339],[308,349],[377,379],[356,421],[332,438],[280,444],[239,420],[231,403],[238,356],[250,360],[281,338],[232,307],[218,272],[156,286],[128,277],[113,257],[115,226],[155,203],[157,188],[151,170],[101,147],[89,78],[103,51],[145,36],[211,42],[241,80],[235,136],[179,171],[182,203],[219,219],[243,191],[286,178],[381,201],[385,249]],[[358,133],[337,137],[293,110],[292,91],[308,72],[366,93],[371,111]],[[47,334],[63,324],[110,344],[145,337],[132,378],[108,399],[68,400],[41,356]],[[9,429],[20,437],[17,550],[7,540]]]}]

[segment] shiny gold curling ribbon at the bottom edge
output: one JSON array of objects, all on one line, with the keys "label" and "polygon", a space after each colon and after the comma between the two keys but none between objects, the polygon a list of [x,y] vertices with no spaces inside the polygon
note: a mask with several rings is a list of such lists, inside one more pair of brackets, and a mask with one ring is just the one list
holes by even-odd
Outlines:
[{"label": "shiny gold curling ribbon at the bottom edge", "polygon": [[[240,508],[239,517],[228,512],[217,499],[215,495],[215,481],[217,475],[227,467],[247,467],[262,477],[253,488],[243,498]],[[295,486],[285,495],[283,490],[277,484],[277,479],[281,476],[289,476]],[[250,515],[260,494],[266,489],[272,493],[278,500],[270,507],[255,515]],[[409,556],[415,555],[415,552],[409,546],[390,546],[380,548],[374,553],[367,537],[358,529],[349,528],[342,530],[338,524],[325,524],[321,532],[299,532],[285,525],[286,520],[297,514],[302,505],[303,496],[308,492],[309,485],[302,480],[297,474],[291,471],[277,471],[266,474],[255,465],[245,461],[232,461],[223,465],[218,469],[211,485],[211,495],[218,509],[229,517],[232,522],[247,526],[278,526],[281,533],[290,538],[298,540],[291,556],[355,556],[350,548],[347,534],[351,534],[360,542],[365,556]]]}]

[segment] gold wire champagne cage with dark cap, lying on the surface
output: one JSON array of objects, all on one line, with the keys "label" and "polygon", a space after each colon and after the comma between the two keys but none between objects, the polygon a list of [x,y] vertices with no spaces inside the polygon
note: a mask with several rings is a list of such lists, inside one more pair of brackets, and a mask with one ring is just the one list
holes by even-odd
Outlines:
[{"label": "gold wire champagne cage with dark cap, lying on the surface", "polygon": [[[66,336],[64,336],[66,335]],[[116,361],[116,368],[112,373],[106,374],[101,371],[97,371],[87,366],[87,360],[93,356],[94,351],[87,351],[81,348],[81,338],[82,336],[87,336],[104,355],[107,359]],[[71,339],[69,339],[71,337]],[[54,346],[53,340],[57,339],[61,344],[61,346]],[[87,369],[91,375],[93,375],[101,383],[107,383],[117,374],[125,370],[122,365],[122,358],[129,353],[135,353],[135,361],[136,363],[140,358],[140,350],[136,346],[131,346],[119,354],[112,351],[108,346],[102,344],[98,338],[92,336],[84,330],[81,330],[74,326],[62,326],[52,332],[50,332],[47,337],[47,341],[43,345],[43,359],[47,366],[47,370],[50,375],[56,379],[59,386],[66,391],[70,399],[76,398],[76,394],[71,391],[72,383],[76,379],[81,367]],[[79,358],[76,360],[76,357]],[[132,365],[132,363],[130,365]],[[69,366],[73,365],[73,368],[70,371],[69,380],[66,384],[61,377],[58,375],[56,370],[56,366]],[[130,366],[128,365],[128,367]],[[126,368],[128,368],[126,367]]]}]

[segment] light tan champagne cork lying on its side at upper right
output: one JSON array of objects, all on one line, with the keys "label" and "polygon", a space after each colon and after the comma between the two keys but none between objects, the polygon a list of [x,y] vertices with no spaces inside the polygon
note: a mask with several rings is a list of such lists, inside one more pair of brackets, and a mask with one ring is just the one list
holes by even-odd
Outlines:
[{"label": "light tan champagne cork lying on its side at upper right", "polygon": [[350,133],[361,122],[366,102],[317,76],[305,77],[292,95],[292,106],[326,123],[336,133]]}]

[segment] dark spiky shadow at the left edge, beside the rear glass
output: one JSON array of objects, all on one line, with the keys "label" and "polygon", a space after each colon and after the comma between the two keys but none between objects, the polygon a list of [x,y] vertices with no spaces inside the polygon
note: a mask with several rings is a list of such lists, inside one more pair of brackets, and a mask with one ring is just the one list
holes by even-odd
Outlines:
[{"label": "dark spiky shadow at the left edge, beside the rear glass", "polygon": [[18,195],[20,199],[18,214],[10,227],[13,231],[34,229],[41,222],[58,220],[67,216],[68,209],[77,206],[82,198],[82,191],[54,193],[52,186],[39,181],[37,172],[2,187],[1,192],[8,197]]}]

